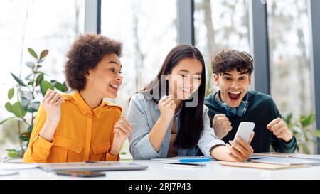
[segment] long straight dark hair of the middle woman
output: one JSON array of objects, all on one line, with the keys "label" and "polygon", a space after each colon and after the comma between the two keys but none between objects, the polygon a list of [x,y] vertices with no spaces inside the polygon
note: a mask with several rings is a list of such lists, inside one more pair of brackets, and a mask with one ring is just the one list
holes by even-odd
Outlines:
[{"label": "long straight dark hair of the middle woman", "polygon": [[[194,92],[188,100],[183,100],[183,102],[181,103],[181,114],[179,117],[180,127],[178,130],[178,135],[176,136],[176,140],[174,141],[174,146],[182,149],[195,147],[198,144],[200,136],[203,132],[202,115],[203,101],[206,91],[206,68],[203,56],[201,55],[198,48],[195,48],[191,45],[178,45],[173,48],[166,56],[166,59],[164,60],[164,63],[162,64],[158,75],[156,75],[155,80],[140,91],[141,93],[144,93],[144,95],[146,95],[147,92],[153,94],[153,91],[158,90],[159,97],[156,97],[157,99],[154,99],[154,101],[158,103],[159,99],[161,99],[161,97],[163,96],[163,94],[161,94],[161,86],[166,85],[166,91],[168,91],[168,82],[166,80],[166,83],[161,83],[161,75],[169,75],[171,73],[171,70],[176,65],[178,65],[181,60],[186,58],[195,58],[199,60],[202,65],[202,73],[201,84],[198,87],[198,90]],[[160,82],[156,82],[156,80],[160,80]],[[186,102],[193,99],[193,97],[198,97],[198,105],[196,107],[186,107]]]}]

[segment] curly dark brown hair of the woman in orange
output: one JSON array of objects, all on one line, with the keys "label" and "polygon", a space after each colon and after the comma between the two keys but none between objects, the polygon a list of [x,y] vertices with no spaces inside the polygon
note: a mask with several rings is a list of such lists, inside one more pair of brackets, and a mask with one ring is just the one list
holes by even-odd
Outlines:
[{"label": "curly dark brown hair of the woman in orange", "polygon": [[122,43],[99,34],[79,36],[68,52],[65,63],[65,78],[73,90],[84,90],[85,75],[94,69],[106,54],[122,54]]}]

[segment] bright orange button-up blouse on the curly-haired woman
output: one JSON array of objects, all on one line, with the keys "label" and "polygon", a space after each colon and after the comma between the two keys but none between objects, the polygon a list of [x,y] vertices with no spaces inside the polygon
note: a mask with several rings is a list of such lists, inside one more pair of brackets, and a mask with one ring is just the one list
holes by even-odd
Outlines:
[{"label": "bright orange button-up blouse on the curly-haired woman", "polygon": [[117,161],[110,154],[114,124],[121,117],[121,107],[102,101],[91,109],[78,91],[63,94],[61,119],[53,142],[46,141],[39,132],[46,122],[42,104],[38,109],[23,163],[56,163],[78,161]]}]

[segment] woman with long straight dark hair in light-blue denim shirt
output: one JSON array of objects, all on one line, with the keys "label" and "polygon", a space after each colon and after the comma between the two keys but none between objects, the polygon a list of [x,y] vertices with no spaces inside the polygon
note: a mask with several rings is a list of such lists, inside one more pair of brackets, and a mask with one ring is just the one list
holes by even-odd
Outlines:
[{"label": "woman with long straight dark hair in light-blue denim shirt", "polygon": [[154,81],[130,99],[127,120],[132,125],[129,144],[133,158],[249,158],[253,152],[250,142],[242,141],[242,146],[235,148],[216,138],[208,108],[203,105],[205,90],[206,69],[200,51],[190,45],[173,48]]}]

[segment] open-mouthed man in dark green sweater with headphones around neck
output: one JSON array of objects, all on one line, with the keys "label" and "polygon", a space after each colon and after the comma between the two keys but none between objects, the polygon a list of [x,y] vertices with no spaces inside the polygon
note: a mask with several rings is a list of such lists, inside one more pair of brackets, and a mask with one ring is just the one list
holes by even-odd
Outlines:
[{"label": "open-mouthed man in dark green sweater with headphones around neck", "polygon": [[253,59],[245,52],[223,50],[213,58],[213,83],[219,91],[205,99],[211,125],[218,139],[232,141],[240,122],[254,122],[251,141],[255,153],[274,151],[293,153],[297,140],[289,131],[276,104],[260,92],[248,91]]}]

